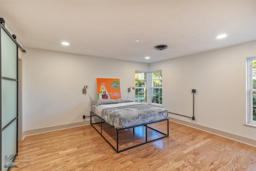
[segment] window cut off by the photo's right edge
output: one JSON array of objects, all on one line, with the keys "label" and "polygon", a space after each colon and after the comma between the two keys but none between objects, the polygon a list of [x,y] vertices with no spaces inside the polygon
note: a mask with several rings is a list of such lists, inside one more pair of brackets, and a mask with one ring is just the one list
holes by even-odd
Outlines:
[{"label": "window cut off by the photo's right edge", "polygon": [[247,58],[247,123],[256,125],[256,57]]}]

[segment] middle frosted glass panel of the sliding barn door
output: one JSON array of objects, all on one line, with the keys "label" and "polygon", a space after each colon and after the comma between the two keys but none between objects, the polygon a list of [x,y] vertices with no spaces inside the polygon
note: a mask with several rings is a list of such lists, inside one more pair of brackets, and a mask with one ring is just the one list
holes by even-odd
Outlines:
[{"label": "middle frosted glass panel of the sliding barn door", "polygon": [[2,128],[17,117],[17,81],[2,79]]}]

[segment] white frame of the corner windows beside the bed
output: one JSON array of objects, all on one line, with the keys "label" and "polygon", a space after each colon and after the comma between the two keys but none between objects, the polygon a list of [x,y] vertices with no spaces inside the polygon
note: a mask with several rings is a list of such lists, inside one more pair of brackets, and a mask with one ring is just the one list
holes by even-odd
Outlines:
[{"label": "white frame of the corner windows beside the bed", "polygon": [[[152,97],[152,89],[153,88],[161,88],[162,87],[153,87],[152,86],[152,73],[154,72],[162,72],[162,70],[156,70],[156,71],[135,71],[135,73],[146,73],[146,87],[136,87],[136,88],[146,88],[146,100],[148,104],[150,105],[156,105],[162,107],[162,104],[159,103],[152,103],[151,97]],[[163,94],[162,94],[163,95]]]}]

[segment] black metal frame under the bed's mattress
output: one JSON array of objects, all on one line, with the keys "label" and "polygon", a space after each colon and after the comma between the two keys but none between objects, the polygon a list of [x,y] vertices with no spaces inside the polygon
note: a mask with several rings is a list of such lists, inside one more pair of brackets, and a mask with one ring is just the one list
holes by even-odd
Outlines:
[{"label": "black metal frame under the bed's mattress", "polygon": [[[98,122],[95,122],[95,123],[92,123],[92,117],[96,117],[96,119],[94,119],[94,121],[95,120],[98,120]],[[98,118],[98,119],[97,119]],[[163,133],[162,131],[159,131],[159,130],[157,130],[157,129],[155,129],[155,128],[153,128],[153,127],[150,127],[150,126],[148,126],[148,125],[150,125],[150,124],[152,124],[152,123],[160,123],[160,122],[162,122],[162,121],[167,121],[167,134],[166,133]],[[128,149],[132,149],[132,148],[134,148],[134,147],[138,147],[138,146],[140,146],[140,145],[143,145],[143,144],[146,144],[146,143],[150,143],[150,142],[152,142],[152,141],[156,141],[156,140],[158,140],[158,139],[162,139],[162,138],[164,138],[164,137],[168,137],[169,136],[169,119],[168,118],[166,118],[166,119],[162,119],[162,120],[158,120],[158,121],[153,121],[153,122],[150,122],[150,123],[146,123],[146,124],[141,124],[141,125],[136,125],[136,126],[133,126],[133,127],[126,127],[126,128],[122,128],[122,129],[115,129],[112,125],[110,125],[110,124],[108,124],[106,121],[104,121],[104,119],[102,119],[101,117],[99,117],[98,115],[95,115],[92,111],[91,111],[91,113],[90,113],[90,124],[92,125],[92,127],[94,127],[94,129],[102,136],[102,138],[103,139],[105,139],[105,141],[116,151],[116,153],[119,153],[119,152],[122,152],[122,151],[125,151],[125,150],[128,150]],[[98,129],[94,126],[94,125],[98,125]],[[104,130],[102,130],[102,125],[108,125],[108,127],[111,127],[110,129],[110,131],[107,133],[107,132],[104,132],[104,133],[102,133],[102,131],[104,131]],[[121,150],[119,150],[119,144],[118,143],[120,143],[120,141],[122,140],[122,139],[120,139],[120,131],[124,131],[124,130],[128,130],[128,129],[130,129],[130,128],[132,128],[132,131],[133,131],[133,135],[135,136],[135,134],[134,134],[134,131],[136,131],[136,130],[134,130],[135,128],[138,128],[138,127],[142,127],[142,129],[143,130],[141,130],[141,128],[140,129],[138,129],[139,131],[142,131],[142,137],[144,137],[143,139],[144,139],[144,142],[140,142],[140,143],[138,143],[138,144],[136,144],[136,145],[132,145],[132,146],[130,146],[130,147],[126,147],[126,148],[124,148],[124,149],[121,149]],[[144,128],[145,128],[145,131],[144,131]],[[116,135],[114,136],[114,135],[112,135],[112,130],[115,130],[116,131]],[[154,138],[154,139],[148,139],[148,131],[151,131],[151,133],[152,134],[156,134],[156,133],[159,133],[159,135],[162,135],[162,136],[158,136],[158,137],[156,137],[156,138]],[[114,131],[114,132],[115,132]],[[145,135],[144,135],[144,132],[145,132]],[[110,137],[110,139],[112,138],[112,143],[106,138],[106,137],[104,137],[104,135],[108,135],[108,137]],[[140,136],[141,137],[141,136]],[[142,138],[140,138],[140,139],[138,139],[139,141],[141,141],[142,140]],[[114,145],[112,145],[112,144],[114,144],[114,143],[116,143],[116,147],[114,147]]]}]

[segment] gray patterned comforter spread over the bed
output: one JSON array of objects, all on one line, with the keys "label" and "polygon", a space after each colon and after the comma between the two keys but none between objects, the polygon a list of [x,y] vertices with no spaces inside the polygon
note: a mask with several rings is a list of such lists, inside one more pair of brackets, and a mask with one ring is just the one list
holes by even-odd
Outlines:
[{"label": "gray patterned comforter spread over the bed", "polygon": [[167,109],[142,103],[130,102],[122,106],[110,106],[101,109],[101,117],[116,129],[160,121],[168,117]]}]

